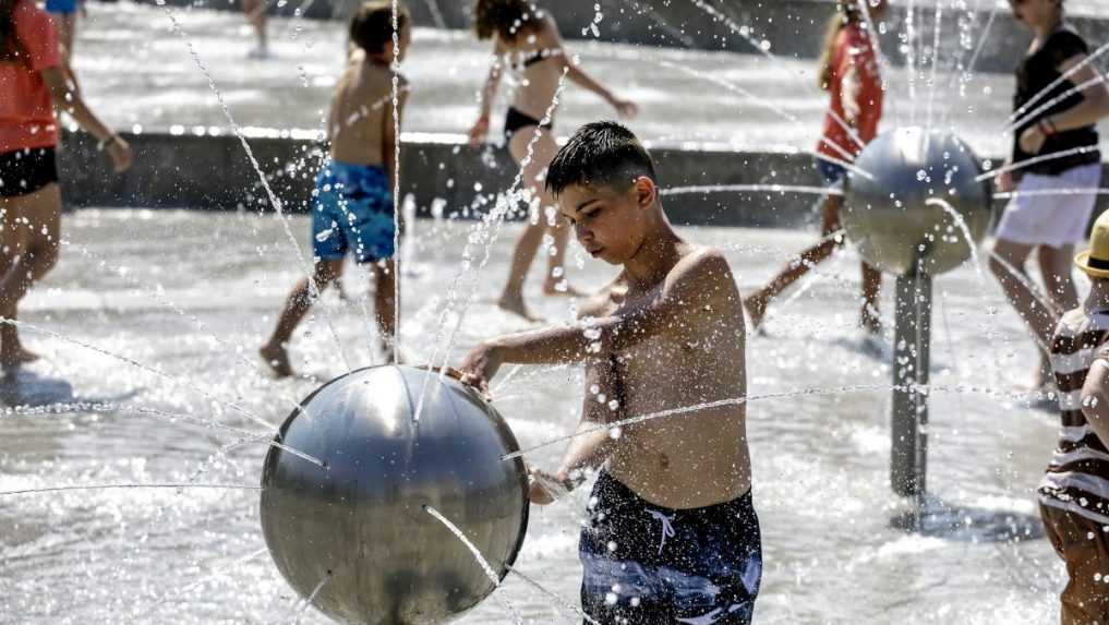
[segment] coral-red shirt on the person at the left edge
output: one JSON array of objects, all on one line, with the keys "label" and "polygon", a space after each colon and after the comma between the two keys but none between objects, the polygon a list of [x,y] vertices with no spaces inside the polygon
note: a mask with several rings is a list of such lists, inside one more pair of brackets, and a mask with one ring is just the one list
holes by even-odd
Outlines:
[{"label": "coral-red shirt on the person at the left edge", "polygon": [[61,65],[58,36],[33,0],[18,0],[12,12],[23,53],[0,62],[0,153],[58,144],[58,124],[42,70]]}]

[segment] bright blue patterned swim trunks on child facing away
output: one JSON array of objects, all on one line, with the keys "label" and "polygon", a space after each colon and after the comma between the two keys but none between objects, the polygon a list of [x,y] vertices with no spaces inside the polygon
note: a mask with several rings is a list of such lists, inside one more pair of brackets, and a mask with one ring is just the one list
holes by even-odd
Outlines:
[{"label": "bright blue patterned swim trunks on child facing away", "polygon": [[316,175],[312,210],[312,252],[319,260],[343,260],[347,251],[359,263],[394,254],[389,175],[380,165],[328,161]]}]

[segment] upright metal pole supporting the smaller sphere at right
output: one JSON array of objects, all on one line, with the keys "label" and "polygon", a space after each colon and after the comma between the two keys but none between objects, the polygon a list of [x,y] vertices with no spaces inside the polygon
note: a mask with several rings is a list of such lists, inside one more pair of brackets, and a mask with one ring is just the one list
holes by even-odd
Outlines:
[{"label": "upright metal pole supporting the smaller sphere at right", "polygon": [[925,493],[927,472],[928,397],[916,387],[928,384],[930,276],[913,273],[897,278],[895,316],[889,485],[898,495],[919,497]]}]

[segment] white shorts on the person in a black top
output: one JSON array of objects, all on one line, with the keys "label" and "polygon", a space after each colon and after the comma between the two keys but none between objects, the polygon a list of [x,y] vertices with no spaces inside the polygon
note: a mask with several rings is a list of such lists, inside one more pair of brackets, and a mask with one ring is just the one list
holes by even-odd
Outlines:
[{"label": "white shorts on the person in a black top", "polygon": [[[1051,194],[1064,189],[1097,189],[1101,164],[1080,165],[1060,175],[1026,173],[1005,206],[997,239],[1061,248],[1081,243],[1098,196],[1093,193]],[[1027,194],[1022,194],[1027,193]]]}]

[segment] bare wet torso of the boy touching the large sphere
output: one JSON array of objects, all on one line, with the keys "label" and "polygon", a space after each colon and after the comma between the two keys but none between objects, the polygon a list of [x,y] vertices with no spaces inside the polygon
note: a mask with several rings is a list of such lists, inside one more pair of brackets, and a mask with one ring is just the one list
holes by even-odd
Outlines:
[{"label": "bare wet torso of the boy touching the large sphere", "polygon": [[[694,245],[658,286],[637,290],[623,275],[593,302],[588,314],[620,315],[665,295],[675,273],[715,252]],[[746,395],[743,308],[722,258],[698,276],[704,301],[660,333],[612,354],[617,419],[653,414]],[[693,269],[692,271],[698,271]],[[746,411],[723,403],[628,426],[609,472],[647,501],[670,508],[703,507],[734,500],[751,487]]]}]

